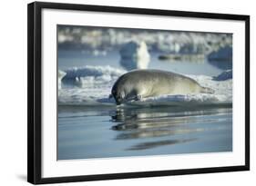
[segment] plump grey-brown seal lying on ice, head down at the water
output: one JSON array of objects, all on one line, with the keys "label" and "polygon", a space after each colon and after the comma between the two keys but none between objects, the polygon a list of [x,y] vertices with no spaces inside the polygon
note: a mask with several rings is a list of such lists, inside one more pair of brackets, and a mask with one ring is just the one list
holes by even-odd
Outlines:
[{"label": "plump grey-brown seal lying on ice, head down at the water", "polygon": [[161,70],[134,70],[121,75],[109,97],[117,104],[164,94],[214,93],[195,80],[178,73]]}]

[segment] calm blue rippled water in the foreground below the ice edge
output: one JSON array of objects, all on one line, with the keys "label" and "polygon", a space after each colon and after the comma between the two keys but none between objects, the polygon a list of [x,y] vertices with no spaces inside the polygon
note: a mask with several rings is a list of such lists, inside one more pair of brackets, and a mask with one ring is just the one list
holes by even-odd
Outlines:
[{"label": "calm blue rippled water in the foreground below the ice edge", "polygon": [[59,160],[230,151],[228,107],[59,107]]}]

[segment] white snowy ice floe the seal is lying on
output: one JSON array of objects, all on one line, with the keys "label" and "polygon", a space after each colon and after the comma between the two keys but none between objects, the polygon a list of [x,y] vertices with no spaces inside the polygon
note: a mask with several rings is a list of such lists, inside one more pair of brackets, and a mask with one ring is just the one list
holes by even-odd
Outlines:
[{"label": "white snowy ice floe the seal is lying on", "polygon": [[[79,77],[82,86],[65,87],[58,90],[58,103],[64,105],[116,105],[115,100],[109,99],[112,85],[126,71],[110,66],[86,66],[67,70],[69,78]],[[186,74],[185,74],[186,75]],[[64,77],[63,80],[67,77]],[[197,93],[185,95],[161,95],[144,98],[141,101],[131,101],[127,105],[179,105],[191,106],[198,104],[232,103],[232,79],[225,78],[216,81],[207,75],[187,75],[200,85],[210,87],[214,93]],[[221,74],[219,75],[221,76]],[[65,83],[64,83],[65,84]]]}]

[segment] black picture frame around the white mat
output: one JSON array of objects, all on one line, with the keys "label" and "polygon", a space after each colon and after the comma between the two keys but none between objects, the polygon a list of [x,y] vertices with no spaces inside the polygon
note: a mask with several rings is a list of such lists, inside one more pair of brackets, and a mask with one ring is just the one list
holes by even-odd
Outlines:
[{"label": "black picture frame around the white mat", "polygon": [[[42,10],[61,9],[92,12],[109,12],[132,15],[165,15],[177,17],[195,17],[209,19],[239,20],[245,23],[245,164],[227,167],[209,167],[200,169],[120,172],[111,174],[79,175],[67,177],[42,178],[42,54],[41,24]],[[34,184],[70,181],[100,181],[140,177],[169,176],[179,174],[210,173],[223,171],[250,170],[250,16],[227,15],[199,12],[142,9],[100,5],[74,5],[35,2],[27,6],[27,181]]]}]

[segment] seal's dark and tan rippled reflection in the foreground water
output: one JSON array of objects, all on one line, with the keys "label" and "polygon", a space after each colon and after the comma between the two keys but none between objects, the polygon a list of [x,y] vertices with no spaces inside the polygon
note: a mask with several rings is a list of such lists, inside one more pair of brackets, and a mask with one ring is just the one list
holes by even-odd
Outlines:
[{"label": "seal's dark and tan rippled reflection in the foreground water", "polygon": [[[201,140],[201,134],[222,130],[226,126],[214,127],[214,122],[226,121],[222,114],[230,113],[227,108],[154,107],[118,108],[111,116],[111,127],[117,131],[115,140],[138,140],[127,151],[148,150],[164,145],[176,145]],[[207,117],[204,117],[207,116]],[[141,142],[145,139],[146,142]],[[148,140],[147,140],[148,139]]]}]

